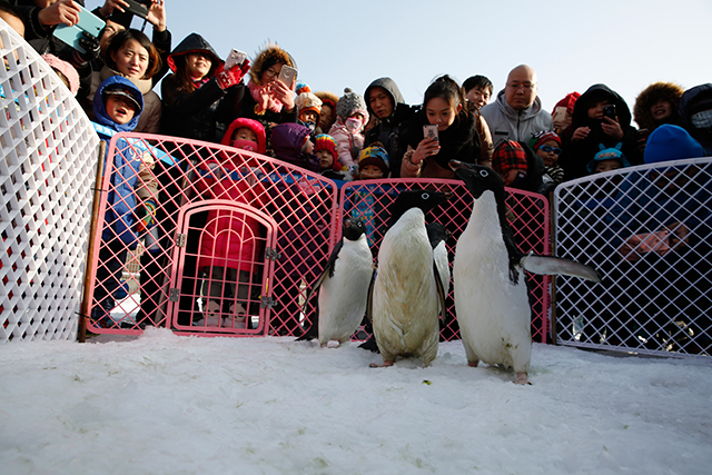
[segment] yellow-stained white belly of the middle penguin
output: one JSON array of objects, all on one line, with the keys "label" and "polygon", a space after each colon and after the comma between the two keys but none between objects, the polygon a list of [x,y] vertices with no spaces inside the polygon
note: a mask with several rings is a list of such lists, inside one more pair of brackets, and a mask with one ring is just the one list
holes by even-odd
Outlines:
[{"label": "yellow-stained white belly of the middle penguin", "polygon": [[[419,356],[427,365],[437,355],[438,299],[433,249],[421,222],[406,212],[380,247],[374,284],[373,318],[384,360]],[[405,218],[405,219],[404,219]]]}]

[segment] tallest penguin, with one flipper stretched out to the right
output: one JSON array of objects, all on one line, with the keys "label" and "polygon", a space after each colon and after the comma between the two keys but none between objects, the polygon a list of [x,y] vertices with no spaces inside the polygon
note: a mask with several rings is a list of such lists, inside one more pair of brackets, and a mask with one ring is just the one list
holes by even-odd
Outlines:
[{"label": "tallest penguin, with one flipper stretched out to the right", "polygon": [[455,313],[467,364],[476,367],[482,360],[510,367],[516,372],[516,384],[530,384],[532,309],[524,270],[601,278],[593,268],[572,260],[520,253],[505,216],[500,175],[456,160],[449,166],[474,198],[453,263]]}]

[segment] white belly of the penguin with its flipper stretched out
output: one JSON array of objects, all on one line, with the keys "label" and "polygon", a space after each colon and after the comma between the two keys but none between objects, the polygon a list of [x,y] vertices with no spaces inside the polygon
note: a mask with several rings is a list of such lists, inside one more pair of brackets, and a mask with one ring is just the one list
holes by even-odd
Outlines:
[{"label": "white belly of the penguin with its flipper stretched out", "polygon": [[514,285],[498,221],[476,222],[457,241],[453,267],[455,310],[467,358],[526,373],[532,337],[524,270]]}]

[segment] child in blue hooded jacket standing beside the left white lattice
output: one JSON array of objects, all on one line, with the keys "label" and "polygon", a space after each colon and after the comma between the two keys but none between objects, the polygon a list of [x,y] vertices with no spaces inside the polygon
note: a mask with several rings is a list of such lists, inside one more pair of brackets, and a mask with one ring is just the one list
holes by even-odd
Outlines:
[{"label": "child in blue hooded jacket standing beside the left white lattice", "polygon": [[[93,100],[95,129],[100,139],[108,144],[116,132],[134,130],[142,108],[144,96],[130,80],[120,76],[107,78],[99,85]],[[113,164],[107,162],[103,168],[105,174],[111,172],[110,190],[93,289],[96,306],[91,310],[92,319],[101,326],[112,325],[109,314],[120,287],[126,256],[136,249],[139,232],[155,224],[158,195],[150,170],[152,164],[148,160],[150,155],[146,154],[141,160],[125,139],[119,139],[116,147]],[[144,218],[137,222],[137,216]]]}]

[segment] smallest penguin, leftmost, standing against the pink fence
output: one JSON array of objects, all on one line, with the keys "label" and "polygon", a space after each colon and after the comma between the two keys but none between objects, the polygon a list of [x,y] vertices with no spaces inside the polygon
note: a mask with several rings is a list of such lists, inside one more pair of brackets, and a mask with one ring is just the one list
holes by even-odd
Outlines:
[{"label": "smallest penguin, leftmost, standing against the pink fence", "polygon": [[[297,342],[317,336],[322,347],[329,342],[348,342],[366,314],[374,258],[362,219],[344,220],[342,239],[336,244],[324,271],[312,287],[306,301],[318,290],[316,316],[309,330]],[[306,307],[306,304],[305,304]]]}]

